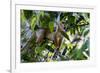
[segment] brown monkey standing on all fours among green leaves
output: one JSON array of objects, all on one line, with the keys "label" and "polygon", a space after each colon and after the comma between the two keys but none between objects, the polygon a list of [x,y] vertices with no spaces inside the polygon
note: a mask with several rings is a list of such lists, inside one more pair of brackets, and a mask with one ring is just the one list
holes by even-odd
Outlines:
[{"label": "brown monkey standing on all fours among green leaves", "polygon": [[49,29],[40,28],[36,31],[36,43],[41,43],[44,38],[54,42],[56,48],[60,48],[63,36],[61,32],[64,32],[64,24],[58,24],[58,29],[55,32],[50,32]]}]

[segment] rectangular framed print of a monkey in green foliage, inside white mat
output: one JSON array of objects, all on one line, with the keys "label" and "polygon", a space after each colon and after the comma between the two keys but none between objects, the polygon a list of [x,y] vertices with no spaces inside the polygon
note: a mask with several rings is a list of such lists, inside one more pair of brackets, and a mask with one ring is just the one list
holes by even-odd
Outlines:
[{"label": "rectangular framed print of a monkey in green foliage, inside white mat", "polygon": [[21,62],[89,59],[90,14],[21,10]]}]

